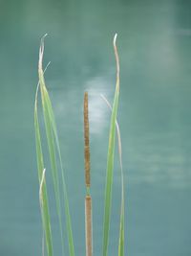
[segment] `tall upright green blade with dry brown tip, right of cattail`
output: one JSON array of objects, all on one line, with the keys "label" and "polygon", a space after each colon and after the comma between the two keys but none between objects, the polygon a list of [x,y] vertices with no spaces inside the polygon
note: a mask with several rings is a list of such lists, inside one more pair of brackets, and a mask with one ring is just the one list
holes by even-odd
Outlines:
[{"label": "tall upright green blade with dry brown tip, right of cattail", "polygon": [[112,185],[113,185],[113,170],[114,170],[114,154],[115,154],[115,137],[116,137],[116,120],[117,120],[117,106],[119,96],[119,60],[116,45],[117,35],[114,38],[115,56],[117,59],[117,84],[115,98],[112,108],[112,117],[110,124],[109,134],[109,147],[107,156],[107,171],[106,171],[106,189],[105,189],[105,205],[104,205],[104,223],[103,223],[103,256],[108,254],[109,244],[109,229],[110,229],[110,216],[112,205]]}]

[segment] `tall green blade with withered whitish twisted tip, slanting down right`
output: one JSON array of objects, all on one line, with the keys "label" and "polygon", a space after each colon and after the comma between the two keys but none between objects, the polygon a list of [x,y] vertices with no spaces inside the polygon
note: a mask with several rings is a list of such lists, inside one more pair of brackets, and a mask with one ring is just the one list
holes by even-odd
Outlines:
[{"label": "tall green blade with withered whitish twisted tip, slanting down right", "polygon": [[[70,210],[69,210],[69,201],[67,196],[66,182],[64,178],[61,152],[59,147],[56,125],[54,121],[53,106],[49,97],[49,93],[46,89],[44,74],[42,71],[43,53],[44,53],[44,41],[42,39],[40,53],[39,53],[38,72],[39,72],[39,81],[40,81],[41,96],[42,96],[42,105],[43,105],[43,111],[44,111],[45,127],[47,132],[47,140],[48,140],[50,158],[51,158],[52,170],[53,170],[53,183],[54,183],[54,191],[55,191],[55,196],[57,201],[56,202],[57,212],[58,212],[58,218],[61,226],[62,222],[61,222],[61,211],[60,211],[61,209],[60,209],[60,198],[59,198],[60,189],[59,189],[59,180],[58,180],[56,158],[55,158],[56,150],[58,153],[58,158],[60,162],[59,164],[61,167],[62,189],[64,194],[64,206],[65,206],[64,208],[65,208],[66,224],[67,224],[67,236],[69,241],[69,252],[71,256],[74,256],[74,239],[73,239],[72,223],[71,223],[71,216],[70,216]],[[61,227],[60,227],[60,230],[62,230]],[[63,233],[61,233],[61,236],[63,241]]]}]

